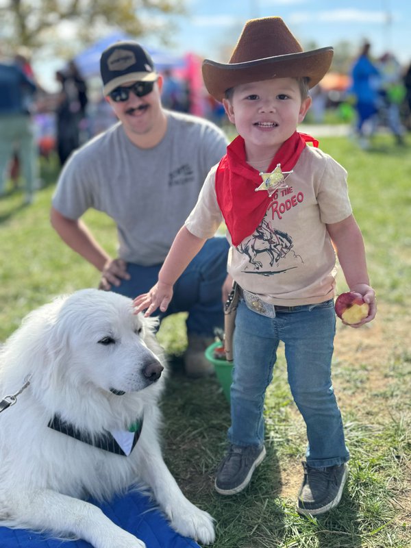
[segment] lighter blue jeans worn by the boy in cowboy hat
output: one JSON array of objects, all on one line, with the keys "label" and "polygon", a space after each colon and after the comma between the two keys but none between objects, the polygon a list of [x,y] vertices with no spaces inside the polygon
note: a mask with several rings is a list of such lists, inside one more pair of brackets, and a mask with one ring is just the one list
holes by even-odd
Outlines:
[{"label": "lighter blue jeans worn by the boy in cowboy hat", "polygon": [[240,300],[234,331],[230,443],[264,443],[264,396],[284,341],[288,383],[307,427],[307,462],[314,468],[349,459],[343,421],[331,381],[336,319],[331,300],[276,310],[275,318],[249,310]]}]

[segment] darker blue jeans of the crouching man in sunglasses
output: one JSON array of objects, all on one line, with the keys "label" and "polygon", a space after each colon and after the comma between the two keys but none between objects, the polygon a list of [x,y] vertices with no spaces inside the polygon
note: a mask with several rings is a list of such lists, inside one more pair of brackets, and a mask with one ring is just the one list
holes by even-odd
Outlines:
[{"label": "darker blue jeans of the crouching man in sunglasses", "polygon": [[[187,332],[214,337],[214,327],[223,329],[224,313],[221,288],[227,276],[228,242],[223,237],[210,238],[174,286],[173,299],[165,313],[155,312],[160,319],[176,312],[188,312]],[[140,266],[128,263],[129,280],[122,280],[112,291],[126,297],[147,293],[158,280],[162,264]]]}]

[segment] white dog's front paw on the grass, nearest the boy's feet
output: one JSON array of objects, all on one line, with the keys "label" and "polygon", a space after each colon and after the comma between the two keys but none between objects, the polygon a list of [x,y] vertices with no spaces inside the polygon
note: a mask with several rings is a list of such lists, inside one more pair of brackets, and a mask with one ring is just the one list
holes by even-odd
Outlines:
[{"label": "white dog's front paw on the grass, nearest the boy's feet", "polygon": [[201,544],[214,543],[214,520],[208,512],[204,512],[188,503],[190,506],[182,506],[178,510],[173,508],[171,526],[179,534],[199,541]]}]

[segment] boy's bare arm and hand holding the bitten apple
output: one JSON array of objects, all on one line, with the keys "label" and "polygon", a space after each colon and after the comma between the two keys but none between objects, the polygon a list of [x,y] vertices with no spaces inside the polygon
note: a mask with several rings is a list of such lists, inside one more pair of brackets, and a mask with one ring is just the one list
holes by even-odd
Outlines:
[{"label": "boy's bare arm and hand holding the bitten apple", "polygon": [[336,249],[338,261],[350,291],[360,293],[364,301],[369,304],[369,315],[360,323],[353,325],[353,327],[360,327],[363,323],[373,320],[377,312],[375,292],[369,284],[364,240],[360,228],[353,215],[350,215],[344,221],[327,225],[327,231]]}]

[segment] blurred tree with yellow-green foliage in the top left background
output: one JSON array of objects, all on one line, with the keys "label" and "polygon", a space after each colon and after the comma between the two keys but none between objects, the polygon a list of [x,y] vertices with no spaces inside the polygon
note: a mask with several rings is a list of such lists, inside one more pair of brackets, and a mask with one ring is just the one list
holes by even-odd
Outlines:
[{"label": "blurred tree with yellow-green foliage in the top left background", "polygon": [[[10,51],[53,44],[55,53],[69,54],[121,29],[134,37],[155,32],[169,43],[173,15],[184,12],[184,0],[0,0],[0,40]],[[67,25],[70,40],[64,36]]]}]

